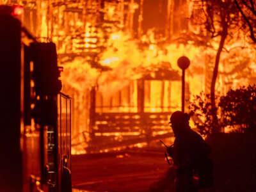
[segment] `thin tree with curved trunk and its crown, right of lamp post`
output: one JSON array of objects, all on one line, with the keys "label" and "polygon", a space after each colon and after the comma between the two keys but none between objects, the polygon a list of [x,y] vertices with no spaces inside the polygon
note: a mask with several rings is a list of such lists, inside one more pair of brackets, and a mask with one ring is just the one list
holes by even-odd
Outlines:
[{"label": "thin tree with curved trunk and its crown, right of lamp post", "polygon": [[205,37],[210,36],[219,40],[211,82],[212,126],[214,132],[219,132],[215,85],[223,47],[226,42],[234,38],[234,33],[239,30],[241,23],[239,22],[239,12],[237,12],[236,4],[232,0],[194,1],[192,20],[194,24],[200,26],[200,33],[204,33]]}]

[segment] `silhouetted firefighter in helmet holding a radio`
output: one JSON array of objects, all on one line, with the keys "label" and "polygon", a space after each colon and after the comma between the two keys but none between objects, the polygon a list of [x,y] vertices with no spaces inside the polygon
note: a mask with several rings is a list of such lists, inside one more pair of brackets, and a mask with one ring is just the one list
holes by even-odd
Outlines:
[{"label": "silhouetted firefighter in helmet holding a radio", "polygon": [[[195,192],[198,189],[210,188],[213,183],[213,165],[209,158],[211,147],[200,134],[191,130],[187,113],[175,111],[170,117],[170,125],[175,141],[166,150],[175,166],[175,191]],[[172,170],[169,170],[166,178],[159,181],[152,191],[165,191],[172,186],[166,182],[172,182],[172,179]]]}]

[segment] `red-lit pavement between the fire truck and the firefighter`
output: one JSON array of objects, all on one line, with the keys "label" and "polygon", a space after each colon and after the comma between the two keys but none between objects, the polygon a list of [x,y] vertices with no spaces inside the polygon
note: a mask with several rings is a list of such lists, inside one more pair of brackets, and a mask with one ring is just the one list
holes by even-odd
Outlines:
[{"label": "red-lit pavement between the fire truck and the firefighter", "polygon": [[74,192],[148,191],[170,168],[162,151],[125,151],[72,156]]}]

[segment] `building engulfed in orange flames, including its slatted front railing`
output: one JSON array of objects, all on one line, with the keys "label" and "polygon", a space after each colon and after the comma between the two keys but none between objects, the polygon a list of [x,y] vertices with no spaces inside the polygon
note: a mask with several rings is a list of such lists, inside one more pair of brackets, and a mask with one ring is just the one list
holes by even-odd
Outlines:
[{"label": "building engulfed in orange flames, including its slatted front railing", "polygon": [[[191,60],[186,106],[191,95],[209,92],[211,48],[200,47],[187,0],[50,0],[12,1],[22,4],[26,28],[42,41],[53,41],[63,90],[74,100],[73,152],[102,151],[169,137],[168,116],[180,109],[181,83],[177,60]],[[197,43],[195,43],[197,42]],[[237,44],[241,44],[238,42]],[[214,47],[215,46],[215,47]],[[235,44],[223,54],[218,91],[252,83],[252,49],[237,57]],[[238,63],[237,68],[228,66]],[[242,65],[241,65],[242,63]],[[250,67],[248,68],[248,66]],[[242,66],[242,69],[241,69]],[[242,70],[240,77],[237,72]],[[244,67],[244,68],[243,68]],[[250,70],[253,69],[253,70]],[[252,78],[247,78],[248,76]],[[234,81],[234,79],[236,81]],[[239,80],[240,79],[240,80]],[[95,147],[97,146],[97,147]]]}]

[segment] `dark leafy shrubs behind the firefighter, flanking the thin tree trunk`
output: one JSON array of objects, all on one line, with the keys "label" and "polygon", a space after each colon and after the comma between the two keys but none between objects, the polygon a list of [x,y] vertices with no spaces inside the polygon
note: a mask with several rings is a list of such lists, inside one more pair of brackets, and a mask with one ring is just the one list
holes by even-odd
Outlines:
[{"label": "dark leafy shrubs behind the firefighter, flanking the thin tree trunk", "polygon": [[213,127],[229,128],[230,132],[256,132],[256,85],[243,86],[229,90],[227,95],[216,99],[215,110],[218,125],[212,121],[211,100],[209,94],[200,93],[189,105],[189,113],[198,132],[211,134]]}]

